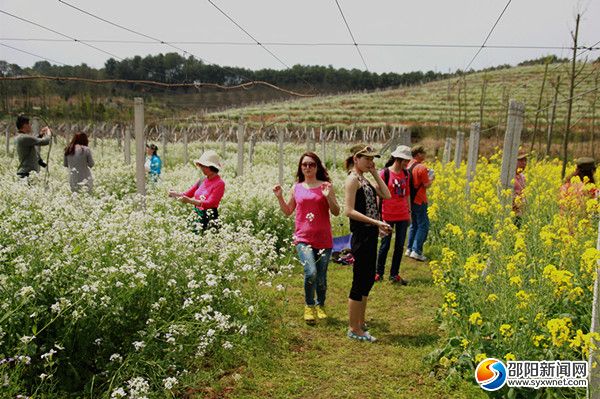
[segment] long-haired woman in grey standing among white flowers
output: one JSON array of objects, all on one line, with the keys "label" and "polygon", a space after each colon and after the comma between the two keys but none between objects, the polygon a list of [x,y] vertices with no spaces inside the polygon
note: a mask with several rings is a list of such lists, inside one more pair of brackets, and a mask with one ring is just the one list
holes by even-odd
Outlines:
[{"label": "long-haired woman in grey standing among white flowers", "polygon": [[94,179],[90,168],[94,166],[94,158],[85,133],[73,135],[65,148],[63,165],[69,169],[69,185],[72,192],[79,191],[84,186],[88,192],[92,191]]}]

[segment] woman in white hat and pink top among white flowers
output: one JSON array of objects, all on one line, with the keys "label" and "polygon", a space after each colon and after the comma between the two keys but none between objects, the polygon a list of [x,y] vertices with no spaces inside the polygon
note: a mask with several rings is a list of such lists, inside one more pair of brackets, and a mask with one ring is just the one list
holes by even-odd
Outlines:
[{"label": "woman in white hat and pink top among white flowers", "polygon": [[225,193],[225,182],[219,176],[221,159],[219,155],[208,150],[194,161],[206,177],[199,179],[187,191],[178,192],[169,190],[169,197],[175,197],[185,204],[194,205],[196,219],[193,226],[194,233],[198,233],[198,227],[206,230],[209,225],[216,224],[219,217],[219,203]]}]

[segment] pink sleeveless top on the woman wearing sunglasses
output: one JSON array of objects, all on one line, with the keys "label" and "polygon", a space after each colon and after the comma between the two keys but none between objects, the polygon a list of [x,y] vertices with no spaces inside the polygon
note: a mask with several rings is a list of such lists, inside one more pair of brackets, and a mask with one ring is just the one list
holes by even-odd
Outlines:
[{"label": "pink sleeveless top on the woman wearing sunglasses", "polygon": [[303,183],[294,185],[296,201],[296,230],[294,244],[304,243],[317,249],[333,248],[329,203],[321,187],[306,188]]}]

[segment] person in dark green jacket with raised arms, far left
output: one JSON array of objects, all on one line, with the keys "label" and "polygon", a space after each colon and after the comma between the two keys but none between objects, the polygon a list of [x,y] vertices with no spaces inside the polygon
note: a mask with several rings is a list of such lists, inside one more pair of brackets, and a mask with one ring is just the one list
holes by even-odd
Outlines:
[{"label": "person in dark green jacket with raised arms, far left", "polygon": [[29,118],[24,115],[19,115],[17,118],[17,130],[17,137],[15,137],[15,147],[17,149],[17,156],[19,157],[17,175],[25,178],[31,172],[39,172],[40,166],[46,167],[46,164],[40,157],[39,146],[50,144],[52,131],[48,126],[45,126],[40,131],[39,138],[32,136]]}]

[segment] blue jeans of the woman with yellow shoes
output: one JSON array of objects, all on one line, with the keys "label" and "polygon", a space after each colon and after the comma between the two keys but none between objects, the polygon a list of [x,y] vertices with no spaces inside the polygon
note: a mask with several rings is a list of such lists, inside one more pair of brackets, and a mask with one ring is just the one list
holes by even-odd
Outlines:
[{"label": "blue jeans of the woman with yellow shoes", "polygon": [[315,291],[317,292],[317,305],[325,305],[327,295],[327,265],[331,258],[331,248],[317,249],[308,244],[296,245],[298,259],[304,266],[304,297],[306,304],[315,305]]}]

